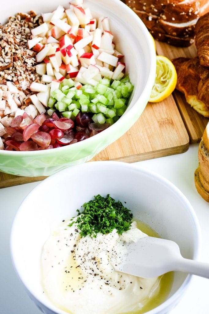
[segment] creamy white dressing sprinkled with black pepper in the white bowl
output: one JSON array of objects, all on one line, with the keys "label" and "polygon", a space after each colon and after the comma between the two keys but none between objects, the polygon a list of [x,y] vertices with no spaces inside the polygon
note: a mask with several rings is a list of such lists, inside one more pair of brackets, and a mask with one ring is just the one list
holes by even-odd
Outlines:
[{"label": "creamy white dressing sprinkled with black pepper in the white bowl", "polygon": [[116,272],[125,254],[124,242],[147,236],[132,223],[119,236],[116,230],[96,238],[81,238],[76,226],[64,221],[44,244],[42,282],[51,302],[72,314],[143,313],[160,291],[161,277],[139,278]]}]

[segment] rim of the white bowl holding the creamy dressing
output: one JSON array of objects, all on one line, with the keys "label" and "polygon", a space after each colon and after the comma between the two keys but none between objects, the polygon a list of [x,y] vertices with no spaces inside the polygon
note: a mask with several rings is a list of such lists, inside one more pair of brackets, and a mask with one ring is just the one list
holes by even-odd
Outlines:
[{"label": "rim of the white bowl holding the creamy dressing", "polygon": [[[193,254],[193,260],[197,260],[200,257],[200,253],[201,253],[201,248],[202,248],[202,239],[201,239],[201,229],[200,229],[200,225],[199,225],[199,221],[197,218],[197,215],[195,213],[194,208],[192,207],[191,203],[189,202],[189,200],[186,198],[186,196],[180,191],[180,189],[178,187],[176,187],[171,181],[169,181],[168,179],[166,179],[164,176],[159,175],[158,173],[149,170],[147,168],[144,168],[140,165],[136,165],[136,164],[130,164],[130,163],[125,163],[125,162],[121,162],[121,161],[91,161],[91,162],[87,162],[81,165],[75,165],[73,166],[73,168],[78,168],[79,170],[81,170],[80,168],[84,167],[95,167],[95,163],[97,163],[97,165],[99,167],[103,167],[104,165],[110,165],[113,166],[114,168],[117,167],[121,170],[123,170],[124,168],[129,169],[130,171],[135,171],[138,172],[138,175],[140,174],[146,174],[149,175],[150,177],[152,177],[154,180],[159,180],[162,183],[164,183],[168,188],[170,188],[170,190],[172,190],[176,195],[178,195],[183,203],[186,205],[186,211],[188,212],[188,214],[190,215],[190,218],[193,221],[193,226],[194,226],[194,232],[196,234],[195,237],[195,241],[194,241],[194,254]],[[68,167],[68,171],[71,170],[72,167]],[[49,308],[51,311],[56,311],[57,314],[66,314],[65,311],[60,310],[59,308],[56,308],[53,304],[50,304],[50,307],[48,304],[46,304],[45,302],[40,300],[40,294],[37,292],[33,292],[31,290],[31,287],[29,287],[27,284],[24,283],[24,279],[21,276],[21,273],[19,273],[18,271],[18,263],[16,261],[16,257],[15,254],[13,253],[13,247],[15,246],[15,241],[16,241],[16,237],[15,237],[15,233],[14,233],[14,229],[15,229],[15,225],[16,225],[16,221],[18,221],[18,216],[21,213],[21,208],[24,204],[24,202],[26,201],[26,199],[30,198],[31,195],[33,195],[34,192],[36,192],[37,189],[40,189],[40,187],[42,185],[47,184],[47,182],[49,180],[55,180],[56,177],[60,177],[62,176],[62,173],[64,171],[66,171],[67,169],[63,169],[61,171],[56,172],[55,174],[49,176],[48,178],[44,179],[43,181],[41,181],[40,183],[38,183],[38,185],[36,187],[34,187],[29,194],[24,198],[24,200],[22,201],[22,203],[19,205],[18,210],[16,212],[15,218],[13,220],[13,224],[12,224],[12,228],[11,228],[11,233],[10,233],[10,255],[11,255],[11,259],[12,259],[12,263],[13,263],[13,267],[19,277],[19,279],[22,281],[24,287],[26,288],[26,290],[28,290],[29,295],[33,296],[33,298],[35,298],[40,304],[42,304],[43,306],[45,306],[46,308]],[[175,306],[175,304],[177,303],[177,300],[180,299],[180,297],[185,293],[186,289],[188,288],[188,285],[191,283],[191,279],[193,279],[194,275],[192,274],[188,274],[183,282],[183,284],[181,284],[181,286],[179,287],[179,289],[170,297],[168,297],[167,300],[165,300],[162,304],[160,304],[159,306],[155,307],[154,309],[146,312],[147,314],[156,314],[156,313],[160,313],[161,311],[170,308],[172,305]]]}]

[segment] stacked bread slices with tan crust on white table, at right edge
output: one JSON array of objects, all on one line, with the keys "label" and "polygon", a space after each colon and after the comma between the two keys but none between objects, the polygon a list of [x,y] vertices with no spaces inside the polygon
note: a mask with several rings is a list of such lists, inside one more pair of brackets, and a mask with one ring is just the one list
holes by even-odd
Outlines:
[{"label": "stacked bread slices with tan crust on white table, at right edge", "polygon": [[195,171],[195,186],[197,192],[209,202],[209,122],[204,131],[204,137],[199,144],[199,165]]}]

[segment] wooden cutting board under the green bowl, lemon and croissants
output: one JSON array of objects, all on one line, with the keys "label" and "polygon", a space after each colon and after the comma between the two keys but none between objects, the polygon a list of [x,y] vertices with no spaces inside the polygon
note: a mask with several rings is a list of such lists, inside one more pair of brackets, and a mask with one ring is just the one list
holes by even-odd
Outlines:
[{"label": "wooden cutting board under the green bowl, lemon and croissants", "polygon": [[[157,54],[170,59],[196,56],[194,45],[176,48],[156,41]],[[136,162],[185,152],[190,143],[200,141],[208,119],[199,115],[175,91],[160,103],[146,106],[144,112],[121,138],[97,154],[92,161],[119,160]],[[189,135],[188,135],[189,134]],[[34,181],[45,177],[19,177],[0,173],[0,188]]]}]

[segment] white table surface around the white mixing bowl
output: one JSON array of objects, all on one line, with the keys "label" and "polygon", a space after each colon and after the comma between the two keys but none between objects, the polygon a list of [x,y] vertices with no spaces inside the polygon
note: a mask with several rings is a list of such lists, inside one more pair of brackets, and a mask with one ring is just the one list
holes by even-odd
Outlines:
[{"label": "white table surface around the white mixing bowl", "polygon": [[[201,260],[209,262],[209,203],[197,193],[194,171],[198,165],[198,144],[190,145],[183,154],[137,162],[174,183],[188,198],[196,211],[202,232]],[[40,314],[29,299],[14,272],[10,259],[9,237],[13,218],[24,197],[39,182],[0,189],[0,313]],[[182,300],[170,314],[208,314],[209,279],[193,276]],[[82,313],[81,313],[82,314]]]}]

